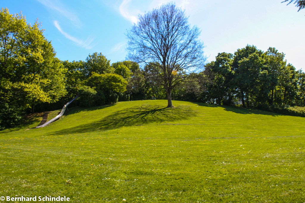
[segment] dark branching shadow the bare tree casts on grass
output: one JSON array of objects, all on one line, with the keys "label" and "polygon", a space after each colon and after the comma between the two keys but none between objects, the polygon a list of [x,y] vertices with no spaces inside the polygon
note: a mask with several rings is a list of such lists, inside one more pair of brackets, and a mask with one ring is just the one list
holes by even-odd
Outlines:
[{"label": "dark branching shadow the bare tree casts on grass", "polygon": [[66,128],[52,134],[64,135],[71,133],[84,133],[92,131],[106,131],[124,126],[140,126],[145,124],[159,124],[185,120],[195,116],[195,111],[189,107],[162,108],[160,106],[131,107],[116,111],[99,121],[83,124],[76,127]]}]

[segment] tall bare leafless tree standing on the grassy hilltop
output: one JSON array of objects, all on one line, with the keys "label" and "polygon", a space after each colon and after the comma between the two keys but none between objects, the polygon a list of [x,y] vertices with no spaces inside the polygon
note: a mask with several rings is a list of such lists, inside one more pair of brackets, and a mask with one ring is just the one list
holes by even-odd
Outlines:
[{"label": "tall bare leafless tree standing on the grassy hilltop", "polygon": [[205,62],[200,30],[188,24],[185,11],[173,3],[144,15],[127,32],[127,58],[152,68],[162,79],[167,107],[173,107],[171,91]]}]

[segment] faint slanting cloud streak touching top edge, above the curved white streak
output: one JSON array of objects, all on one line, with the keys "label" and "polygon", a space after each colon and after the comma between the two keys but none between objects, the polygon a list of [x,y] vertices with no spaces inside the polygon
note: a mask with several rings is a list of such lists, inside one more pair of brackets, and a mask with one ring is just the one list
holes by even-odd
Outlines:
[{"label": "faint slanting cloud streak touching top edge, above the curved white streak", "polygon": [[58,1],[51,1],[51,0],[37,0],[41,4],[45,5],[49,9],[55,11],[56,13],[66,17],[69,19],[75,26],[81,27],[82,23],[81,21],[77,18],[77,16],[73,13],[68,11],[68,9],[65,8],[64,5],[62,5]]}]

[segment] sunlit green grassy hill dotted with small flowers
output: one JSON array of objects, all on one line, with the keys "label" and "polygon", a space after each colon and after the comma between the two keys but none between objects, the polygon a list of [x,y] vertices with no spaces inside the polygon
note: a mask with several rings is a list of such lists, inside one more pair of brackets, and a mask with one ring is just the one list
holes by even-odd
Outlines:
[{"label": "sunlit green grassy hill dotted with small flowers", "polygon": [[304,202],[304,117],[165,100],[69,108],[0,131],[1,196]]}]

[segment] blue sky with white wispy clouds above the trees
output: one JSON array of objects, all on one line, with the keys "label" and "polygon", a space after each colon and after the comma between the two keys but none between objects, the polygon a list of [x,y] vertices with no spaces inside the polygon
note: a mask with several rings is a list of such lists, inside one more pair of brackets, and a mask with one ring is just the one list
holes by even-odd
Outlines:
[{"label": "blue sky with white wispy clouds above the trees", "polygon": [[[305,9],[297,12],[283,0],[176,0],[191,26],[202,31],[208,61],[219,52],[234,53],[247,44],[275,47],[286,60],[305,70]],[[61,60],[85,60],[102,52],[111,63],[125,60],[125,34],[144,14],[170,0],[1,0],[0,7],[38,21]]]}]

